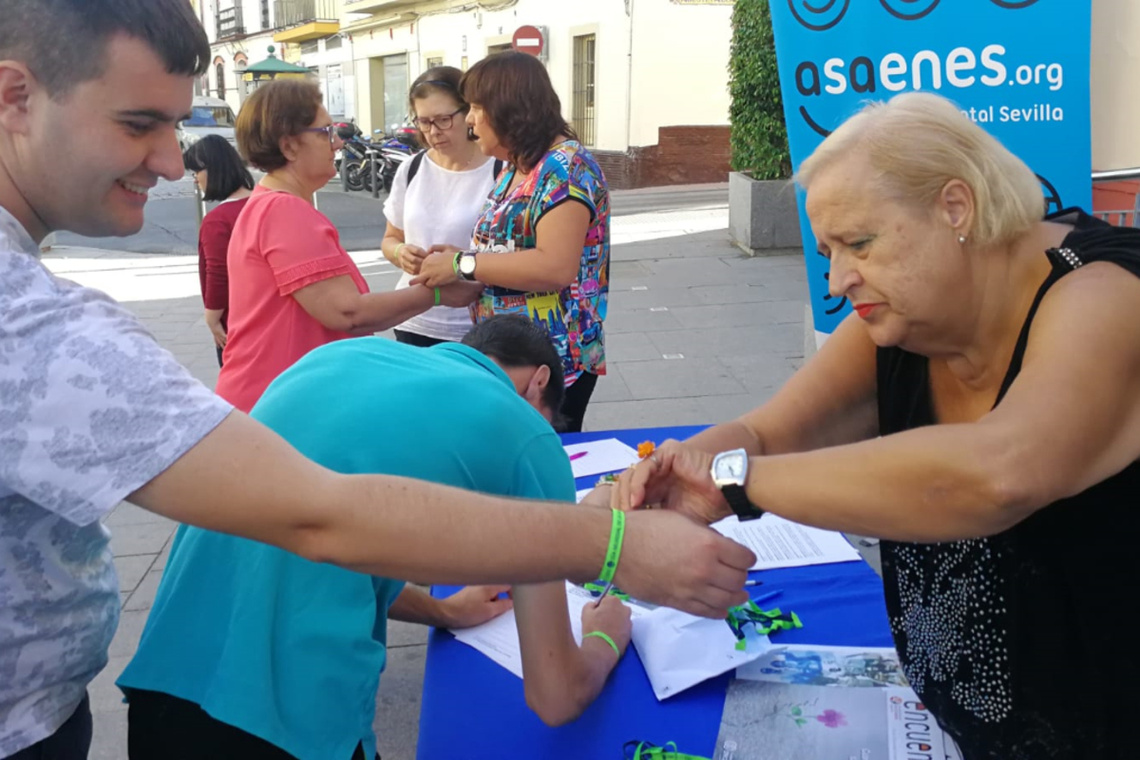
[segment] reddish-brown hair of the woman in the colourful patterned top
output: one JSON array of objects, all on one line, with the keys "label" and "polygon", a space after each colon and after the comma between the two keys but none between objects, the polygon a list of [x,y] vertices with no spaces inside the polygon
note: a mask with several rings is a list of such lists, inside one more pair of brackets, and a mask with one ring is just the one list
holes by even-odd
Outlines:
[{"label": "reddish-brown hair of the woman in the colourful patterned top", "polygon": [[538,165],[555,139],[578,139],[562,117],[546,66],[530,54],[506,50],[483,58],[463,75],[459,92],[483,109],[511,163],[521,169]]}]

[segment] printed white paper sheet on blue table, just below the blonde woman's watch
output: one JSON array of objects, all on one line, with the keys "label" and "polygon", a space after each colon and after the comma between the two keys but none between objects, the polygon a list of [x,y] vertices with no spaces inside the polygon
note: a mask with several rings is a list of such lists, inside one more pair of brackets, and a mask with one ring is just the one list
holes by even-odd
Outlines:
[{"label": "printed white paper sheet on blue table, just below the blonde woman's watch", "polygon": [[735,516],[725,517],[712,528],[756,554],[752,570],[826,565],[861,558],[842,533],[808,528],[773,514],[743,522]]}]

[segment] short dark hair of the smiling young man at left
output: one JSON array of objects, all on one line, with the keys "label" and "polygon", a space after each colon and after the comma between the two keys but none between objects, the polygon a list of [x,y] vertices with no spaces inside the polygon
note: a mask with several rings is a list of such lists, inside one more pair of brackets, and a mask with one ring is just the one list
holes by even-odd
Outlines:
[{"label": "short dark hair of the smiling young man at left", "polygon": [[27,66],[52,98],[103,76],[116,34],[146,42],[169,74],[201,76],[210,40],[187,0],[0,0],[0,60]]}]

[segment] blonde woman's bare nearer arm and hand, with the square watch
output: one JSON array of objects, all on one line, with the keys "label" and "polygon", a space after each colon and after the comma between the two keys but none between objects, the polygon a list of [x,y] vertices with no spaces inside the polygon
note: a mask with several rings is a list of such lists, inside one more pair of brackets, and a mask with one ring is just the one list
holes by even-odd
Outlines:
[{"label": "blonde woman's bare nearer arm and hand, with the square watch", "polygon": [[[903,541],[1004,531],[1140,459],[1138,304],[1140,279],[1113,264],[1068,275],[1042,302],[1021,371],[991,412],[754,457],[749,498],[796,522]],[[662,447],[628,477],[632,502],[725,514],[710,461],[692,446]]]}]

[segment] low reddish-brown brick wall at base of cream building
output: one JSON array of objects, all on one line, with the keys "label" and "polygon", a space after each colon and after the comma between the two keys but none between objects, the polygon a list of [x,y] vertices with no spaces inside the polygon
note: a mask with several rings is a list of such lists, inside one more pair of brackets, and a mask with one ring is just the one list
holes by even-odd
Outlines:
[{"label": "low reddish-brown brick wall at base of cream building", "polygon": [[727,126],[662,126],[657,145],[593,154],[616,190],[728,180]]}]

